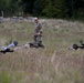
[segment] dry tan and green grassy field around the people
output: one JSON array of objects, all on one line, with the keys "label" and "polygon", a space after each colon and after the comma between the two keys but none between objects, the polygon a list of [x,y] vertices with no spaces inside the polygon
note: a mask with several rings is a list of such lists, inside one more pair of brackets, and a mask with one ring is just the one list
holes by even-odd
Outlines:
[{"label": "dry tan and green grassy field around the people", "polygon": [[[69,50],[84,40],[84,23],[41,19],[44,49],[0,54],[0,83],[84,83],[84,50]],[[0,23],[0,46],[33,41],[34,22]]]}]

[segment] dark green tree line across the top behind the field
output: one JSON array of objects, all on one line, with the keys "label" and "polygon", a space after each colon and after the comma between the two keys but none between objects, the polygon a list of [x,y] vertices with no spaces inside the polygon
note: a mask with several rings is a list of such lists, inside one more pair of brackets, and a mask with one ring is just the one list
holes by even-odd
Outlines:
[{"label": "dark green tree line across the top behind the field", "polygon": [[0,0],[0,15],[36,15],[83,19],[84,0]]}]

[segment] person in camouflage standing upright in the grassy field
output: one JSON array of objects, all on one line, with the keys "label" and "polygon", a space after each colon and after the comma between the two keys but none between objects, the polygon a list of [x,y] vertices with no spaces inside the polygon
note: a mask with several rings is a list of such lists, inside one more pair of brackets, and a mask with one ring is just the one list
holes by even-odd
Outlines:
[{"label": "person in camouflage standing upright in the grassy field", "polygon": [[35,22],[35,34],[34,34],[34,43],[36,44],[42,44],[42,25],[39,22],[38,18],[34,18],[34,22]]}]

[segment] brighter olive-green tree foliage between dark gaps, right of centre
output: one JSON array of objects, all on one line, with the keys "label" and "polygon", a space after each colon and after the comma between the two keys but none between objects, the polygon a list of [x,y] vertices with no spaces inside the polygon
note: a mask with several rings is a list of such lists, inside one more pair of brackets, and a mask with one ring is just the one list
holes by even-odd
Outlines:
[{"label": "brighter olive-green tree foliage between dark gaps, right of centre", "polygon": [[50,18],[63,18],[64,8],[64,0],[46,0],[46,6],[43,12]]}]

